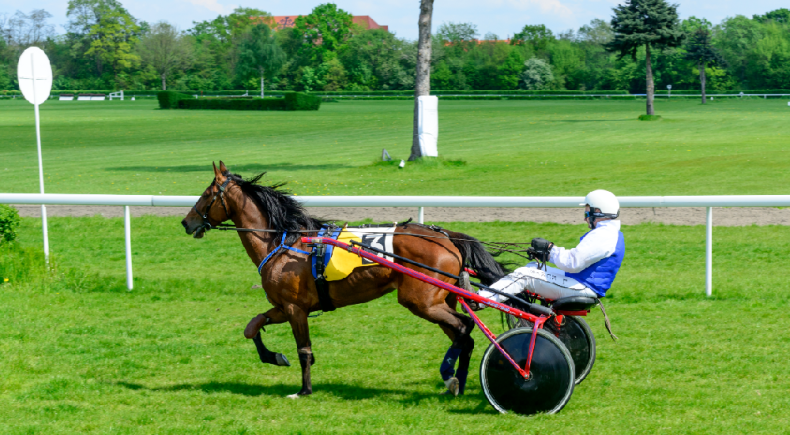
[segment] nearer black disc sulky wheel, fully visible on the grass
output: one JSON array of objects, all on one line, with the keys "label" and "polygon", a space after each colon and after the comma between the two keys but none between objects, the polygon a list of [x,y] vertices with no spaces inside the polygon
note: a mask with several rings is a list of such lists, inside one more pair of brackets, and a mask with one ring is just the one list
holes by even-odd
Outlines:
[{"label": "nearer black disc sulky wheel, fully visible on the grass", "polygon": [[[497,337],[522,368],[529,353],[532,328],[516,328]],[[571,355],[557,337],[538,330],[529,379],[524,379],[493,345],[488,346],[480,363],[483,393],[501,413],[535,414],[559,412],[571,399],[574,386]]]}]

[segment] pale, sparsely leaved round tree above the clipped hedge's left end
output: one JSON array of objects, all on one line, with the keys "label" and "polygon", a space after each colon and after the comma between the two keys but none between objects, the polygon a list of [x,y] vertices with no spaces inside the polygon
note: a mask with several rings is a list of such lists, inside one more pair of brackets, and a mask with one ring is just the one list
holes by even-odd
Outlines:
[{"label": "pale, sparsely leaved round tree above the clipped hedge's left end", "polygon": [[173,70],[188,68],[192,63],[192,42],[173,25],[160,21],[140,40],[140,58],[156,70],[162,79],[162,90],[167,90],[167,76]]}]

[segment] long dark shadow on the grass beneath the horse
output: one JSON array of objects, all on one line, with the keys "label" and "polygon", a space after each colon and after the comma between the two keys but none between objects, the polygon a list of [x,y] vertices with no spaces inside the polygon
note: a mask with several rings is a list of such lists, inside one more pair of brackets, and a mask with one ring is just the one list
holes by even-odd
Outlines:
[{"label": "long dark shadow on the grass beneath the horse", "polygon": [[[177,392],[177,391],[202,391],[207,394],[214,394],[214,393],[231,393],[231,394],[238,394],[242,396],[249,396],[249,397],[258,397],[258,396],[273,396],[273,397],[285,397],[289,394],[296,393],[299,391],[298,385],[256,385],[256,384],[246,384],[241,382],[207,382],[207,383],[196,383],[196,384],[177,384],[177,385],[170,385],[167,387],[157,387],[157,388],[148,388],[142,384],[136,384],[132,382],[114,382],[115,385],[130,389],[130,390],[147,390],[147,391],[159,391],[159,392]],[[367,400],[367,399],[382,399],[386,398],[388,400],[395,400],[401,404],[419,404],[425,400],[441,400],[441,401],[452,401],[452,400],[464,400],[464,399],[471,399],[474,402],[482,399],[482,403],[475,408],[468,409],[468,410],[453,410],[452,412],[462,413],[462,414],[475,414],[475,413],[487,413],[489,410],[486,409],[487,403],[485,399],[481,397],[477,397],[478,395],[467,395],[467,396],[460,396],[458,398],[454,398],[451,396],[442,396],[439,393],[425,393],[425,392],[418,392],[414,390],[408,389],[395,389],[395,388],[370,388],[370,387],[360,387],[357,385],[350,385],[350,384],[338,384],[338,383],[330,383],[330,384],[319,384],[314,386],[314,391],[316,393],[322,394],[329,394],[335,396],[337,398],[343,400]],[[496,411],[493,411],[496,413]]]}]

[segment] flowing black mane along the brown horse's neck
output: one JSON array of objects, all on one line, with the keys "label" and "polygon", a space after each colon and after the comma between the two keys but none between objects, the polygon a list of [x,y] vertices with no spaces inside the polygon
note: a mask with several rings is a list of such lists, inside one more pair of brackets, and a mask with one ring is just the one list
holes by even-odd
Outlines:
[{"label": "flowing black mane along the brown horse's neck", "polygon": [[[241,191],[255,200],[261,213],[265,213],[269,227],[277,230],[277,237],[282,237],[284,231],[318,230],[326,221],[314,218],[307,214],[302,204],[297,202],[288,190],[282,189],[286,183],[271,185],[258,184],[266,175],[262,172],[245,180],[238,174],[226,173],[225,176],[241,187]],[[300,237],[299,233],[288,235],[286,243],[293,244]]]}]

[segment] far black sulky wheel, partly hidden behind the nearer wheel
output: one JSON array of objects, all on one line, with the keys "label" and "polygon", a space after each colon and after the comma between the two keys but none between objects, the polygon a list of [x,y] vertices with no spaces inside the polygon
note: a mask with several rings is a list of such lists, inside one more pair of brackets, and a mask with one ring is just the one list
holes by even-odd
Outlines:
[{"label": "far black sulky wheel, partly hidden behind the nearer wheel", "polygon": [[[532,323],[518,317],[508,315],[507,325],[511,328],[532,327]],[[595,336],[581,317],[563,316],[562,324],[557,328],[554,320],[548,320],[543,329],[551,332],[562,341],[571,353],[576,370],[576,385],[579,385],[590,374],[595,364]]]}]

